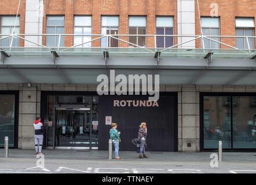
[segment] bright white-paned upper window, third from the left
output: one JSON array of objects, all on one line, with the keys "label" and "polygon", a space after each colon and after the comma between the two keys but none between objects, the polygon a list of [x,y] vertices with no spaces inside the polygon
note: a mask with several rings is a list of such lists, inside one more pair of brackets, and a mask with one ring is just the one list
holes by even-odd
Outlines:
[{"label": "bright white-paned upper window, third from the left", "polygon": [[[74,17],[74,34],[91,35],[92,34],[92,17],[91,16],[75,16]],[[74,45],[92,40],[92,36],[74,36]],[[92,43],[86,43],[78,47],[91,47]]]}]

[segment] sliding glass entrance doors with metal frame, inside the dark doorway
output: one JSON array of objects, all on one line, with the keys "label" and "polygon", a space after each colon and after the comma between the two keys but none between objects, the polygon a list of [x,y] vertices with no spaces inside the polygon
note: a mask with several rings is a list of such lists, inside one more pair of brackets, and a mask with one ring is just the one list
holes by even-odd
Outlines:
[{"label": "sliding glass entrance doors with metal frame, inside the dark doorway", "polygon": [[90,149],[90,108],[56,108],[55,147]]}]

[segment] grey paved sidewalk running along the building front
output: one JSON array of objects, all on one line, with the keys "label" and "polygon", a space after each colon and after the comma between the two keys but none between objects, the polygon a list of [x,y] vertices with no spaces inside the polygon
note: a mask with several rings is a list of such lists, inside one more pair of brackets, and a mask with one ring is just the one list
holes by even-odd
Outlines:
[{"label": "grey paved sidewalk running along the building front", "polygon": [[[47,149],[42,153],[48,159],[67,159],[67,160],[108,160],[108,151],[102,150],[60,150]],[[147,161],[185,161],[185,162],[209,162],[210,155],[214,152],[150,152],[147,154]],[[112,153],[114,157],[114,152]],[[136,151],[120,151],[123,161],[138,161]],[[215,153],[217,154],[217,153]],[[4,158],[4,149],[0,149],[0,158]],[[9,149],[9,158],[35,158],[34,150]],[[223,162],[256,162],[256,153],[231,153],[222,154]]]}]

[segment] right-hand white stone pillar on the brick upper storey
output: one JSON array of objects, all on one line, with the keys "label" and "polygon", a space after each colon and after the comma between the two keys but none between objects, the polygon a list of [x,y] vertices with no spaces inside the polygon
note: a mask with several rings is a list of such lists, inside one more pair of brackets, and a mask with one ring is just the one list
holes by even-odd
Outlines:
[{"label": "right-hand white stone pillar on the brick upper storey", "polygon": [[[178,35],[195,35],[195,0],[178,0],[177,2]],[[193,38],[178,38],[178,43]],[[185,43],[180,48],[195,48],[195,41]]]}]

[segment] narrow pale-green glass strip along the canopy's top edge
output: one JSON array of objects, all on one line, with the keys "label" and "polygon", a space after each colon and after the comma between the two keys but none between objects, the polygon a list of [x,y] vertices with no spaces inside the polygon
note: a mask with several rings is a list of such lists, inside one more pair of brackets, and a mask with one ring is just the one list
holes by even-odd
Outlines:
[{"label": "narrow pale-green glass strip along the canopy's top edge", "polygon": [[[52,47],[2,47],[2,53],[4,52],[8,57],[41,57],[41,56],[54,56],[54,57],[80,57],[80,56],[94,56],[103,57],[105,53],[109,57],[170,57],[170,58],[208,58],[209,55],[212,58],[243,58],[254,60],[256,57],[256,50],[235,50],[235,49],[180,49],[171,48],[160,49],[155,48],[116,48],[109,47],[105,49],[103,47],[90,47],[90,48],[70,48],[61,47],[58,51],[57,48]],[[8,52],[7,52],[8,51]]]}]

